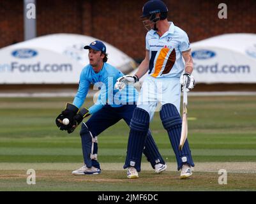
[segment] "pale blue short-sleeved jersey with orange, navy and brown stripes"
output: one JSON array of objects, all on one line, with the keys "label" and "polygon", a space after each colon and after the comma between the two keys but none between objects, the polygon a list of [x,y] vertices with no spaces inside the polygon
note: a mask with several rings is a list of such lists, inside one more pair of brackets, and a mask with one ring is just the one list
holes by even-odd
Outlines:
[{"label": "pale blue short-sleeved jersey with orange, navy and brown stripes", "polygon": [[182,52],[190,49],[188,35],[173,22],[163,36],[151,29],[146,35],[149,75],[155,78],[180,77],[184,69]]}]

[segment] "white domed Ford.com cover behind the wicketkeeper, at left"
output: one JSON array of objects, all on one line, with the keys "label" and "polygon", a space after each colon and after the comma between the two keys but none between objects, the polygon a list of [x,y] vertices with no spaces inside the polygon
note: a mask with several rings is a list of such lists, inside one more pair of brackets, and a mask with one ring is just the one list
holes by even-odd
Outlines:
[{"label": "white domed Ford.com cover behind the wicketkeeper, at left", "polygon": [[[98,40],[80,34],[49,34],[0,49],[0,84],[77,84],[89,64],[85,45]],[[108,62],[124,73],[135,61],[104,41]]]}]

